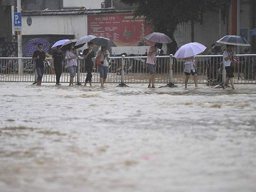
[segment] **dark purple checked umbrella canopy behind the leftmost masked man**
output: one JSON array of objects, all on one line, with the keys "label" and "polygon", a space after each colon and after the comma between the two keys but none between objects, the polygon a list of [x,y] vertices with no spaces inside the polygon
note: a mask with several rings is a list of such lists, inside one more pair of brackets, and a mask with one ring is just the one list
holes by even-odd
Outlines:
[{"label": "dark purple checked umbrella canopy behind the leftmost masked man", "polygon": [[43,44],[43,51],[47,52],[50,48],[50,43],[46,39],[36,38],[29,40],[26,44],[22,47],[22,53],[26,57],[32,57],[34,52],[38,49],[37,45],[41,43]]}]

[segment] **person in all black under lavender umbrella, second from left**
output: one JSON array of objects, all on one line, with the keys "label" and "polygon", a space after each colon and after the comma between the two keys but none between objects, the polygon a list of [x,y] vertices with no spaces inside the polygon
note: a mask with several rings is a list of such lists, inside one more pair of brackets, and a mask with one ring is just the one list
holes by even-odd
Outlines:
[{"label": "person in all black under lavender umbrella, second from left", "polygon": [[56,75],[56,85],[60,85],[60,76],[62,73],[62,61],[65,58],[65,55],[60,50],[60,46],[57,46],[56,51],[52,54],[52,68],[55,71]]}]

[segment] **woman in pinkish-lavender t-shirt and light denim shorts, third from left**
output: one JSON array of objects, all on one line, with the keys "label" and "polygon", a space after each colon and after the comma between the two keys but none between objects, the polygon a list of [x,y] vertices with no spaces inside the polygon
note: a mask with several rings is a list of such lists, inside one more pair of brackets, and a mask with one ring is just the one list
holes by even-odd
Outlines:
[{"label": "woman in pinkish-lavender t-shirt and light denim shorts, third from left", "polygon": [[76,50],[74,49],[74,43],[68,45],[68,50],[66,51],[67,57],[67,67],[70,74],[69,86],[74,84],[74,77],[76,74],[77,67],[77,55]]}]

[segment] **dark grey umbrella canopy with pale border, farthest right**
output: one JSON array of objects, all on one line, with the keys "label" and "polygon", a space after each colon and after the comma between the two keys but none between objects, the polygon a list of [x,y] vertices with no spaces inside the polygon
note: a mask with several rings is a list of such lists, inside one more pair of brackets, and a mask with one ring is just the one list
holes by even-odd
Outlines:
[{"label": "dark grey umbrella canopy with pale border, farthest right", "polygon": [[217,43],[228,44],[228,45],[238,45],[238,46],[251,46],[244,37],[235,36],[235,35],[227,35],[220,38]]}]

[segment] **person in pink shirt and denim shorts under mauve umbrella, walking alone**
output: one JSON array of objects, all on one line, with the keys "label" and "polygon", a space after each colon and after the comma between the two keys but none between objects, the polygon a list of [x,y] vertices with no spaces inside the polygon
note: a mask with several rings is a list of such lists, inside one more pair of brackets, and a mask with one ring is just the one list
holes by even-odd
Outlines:
[{"label": "person in pink shirt and denim shorts under mauve umbrella, walking alone", "polygon": [[155,74],[156,74],[156,52],[158,49],[162,49],[163,44],[156,43],[155,45],[152,45],[149,47],[148,50],[148,56],[147,56],[147,67],[149,71],[149,82],[148,82],[148,88],[155,88]]}]

